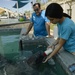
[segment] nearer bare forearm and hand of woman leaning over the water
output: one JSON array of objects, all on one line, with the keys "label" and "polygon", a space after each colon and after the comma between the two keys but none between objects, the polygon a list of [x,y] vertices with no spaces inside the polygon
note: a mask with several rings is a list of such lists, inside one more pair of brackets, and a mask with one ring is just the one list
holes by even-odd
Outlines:
[{"label": "nearer bare forearm and hand of woman leaning over the water", "polygon": [[62,48],[62,46],[64,45],[64,43],[66,42],[66,40],[60,38],[58,41],[58,44],[56,45],[55,49],[53,50],[53,52],[46,58],[46,60],[44,61],[47,62],[50,58],[52,58],[55,54],[58,53],[58,51]]}]

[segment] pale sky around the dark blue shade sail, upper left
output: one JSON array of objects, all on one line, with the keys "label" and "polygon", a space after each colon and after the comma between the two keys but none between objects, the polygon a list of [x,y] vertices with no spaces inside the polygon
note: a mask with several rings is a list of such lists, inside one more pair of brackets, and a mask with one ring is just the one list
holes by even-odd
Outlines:
[{"label": "pale sky around the dark blue shade sail, upper left", "polygon": [[1,0],[0,1],[0,7],[3,8],[7,8],[10,9],[13,12],[20,12],[20,13],[24,13],[25,11],[29,11],[32,10],[32,5],[31,5],[31,1],[29,1],[28,4],[26,4],[25,6],[23,6],[22,8],[19,8],[18,10],[16,8],[13,8],[13,6],[15,5],[16,1],[11,1],[11,0]]}]

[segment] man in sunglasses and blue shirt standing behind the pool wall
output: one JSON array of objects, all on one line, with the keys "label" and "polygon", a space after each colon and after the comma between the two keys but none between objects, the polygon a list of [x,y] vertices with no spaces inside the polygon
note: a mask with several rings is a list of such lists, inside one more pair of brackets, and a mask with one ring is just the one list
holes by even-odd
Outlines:
[{"label": "man in sunglasses and blue shirt standing behind the pool wall", "polygon": [[25,33],[27,35],[33,27],[34,36],[49,36],[50,35],[50,21],[45,16],[45,11],[41,10],[40,3],[33,5],[34,12],[30,18],[30,25]]}]

